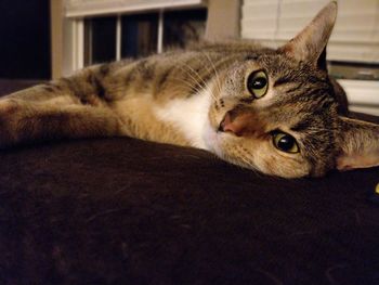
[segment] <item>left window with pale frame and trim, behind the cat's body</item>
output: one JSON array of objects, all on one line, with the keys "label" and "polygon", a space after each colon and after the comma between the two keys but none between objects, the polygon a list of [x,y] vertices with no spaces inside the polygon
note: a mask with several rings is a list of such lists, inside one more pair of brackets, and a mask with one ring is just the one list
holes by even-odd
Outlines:
[{"label": "left window with pale frame and trim, behind the cat's body", "polygon": [[[54,31],[54,50],[63,51],[53,61],[54,78],[91,64],[183,47],[202,36],[207,20],[207,0],[54,0],[53,3],[53,21],[62,27]],[[174,22],[193,33],[175,33],[170,27]],[[64,60],[61,62],[60,57]]]}]

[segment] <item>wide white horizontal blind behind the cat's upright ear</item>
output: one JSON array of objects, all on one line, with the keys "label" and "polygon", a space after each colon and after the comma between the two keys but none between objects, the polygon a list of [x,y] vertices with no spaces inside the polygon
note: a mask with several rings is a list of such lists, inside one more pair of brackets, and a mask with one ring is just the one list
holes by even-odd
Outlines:
[{"label": "wide white horizontal blind behind the cat's upright ear", "polygon": [[[244,0],[241,37],[278,47],[329,0]],[[339,0],[328,60],[379,63],[379,0]]]}]

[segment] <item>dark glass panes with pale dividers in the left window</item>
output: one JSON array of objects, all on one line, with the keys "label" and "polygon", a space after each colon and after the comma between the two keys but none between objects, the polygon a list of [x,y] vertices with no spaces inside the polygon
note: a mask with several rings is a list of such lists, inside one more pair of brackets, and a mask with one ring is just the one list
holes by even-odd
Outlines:
[{"label": "dark glass panes with pale dividers in the left window", "polygon": [[184,48],[204,36],[206,20],[206,9],[86,18],[84,65]]}]

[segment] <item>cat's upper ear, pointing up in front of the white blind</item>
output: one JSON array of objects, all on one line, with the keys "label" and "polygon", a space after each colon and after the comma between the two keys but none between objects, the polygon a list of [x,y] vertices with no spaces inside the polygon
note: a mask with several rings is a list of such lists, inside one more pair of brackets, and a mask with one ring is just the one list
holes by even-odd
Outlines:
[{"label": "cat's upper ear, pointing up in front of the white blind", "polygon": [[326,44],[337,17],[337,2],[327,4],[313,21],[279,51],[326,69]]}]

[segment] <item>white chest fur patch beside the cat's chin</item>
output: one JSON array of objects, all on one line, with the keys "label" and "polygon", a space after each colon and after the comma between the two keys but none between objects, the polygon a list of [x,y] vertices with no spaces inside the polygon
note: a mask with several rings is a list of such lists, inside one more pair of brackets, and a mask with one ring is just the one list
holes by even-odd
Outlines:
[{"label": "white chest fur patch beside the cat's chin", "polygon": [[155,108],[156,116],[173,126],[195,147],[207,148],[204,132],[208,122],[211,98],[208,90],[188,99],[174,99]]}]

